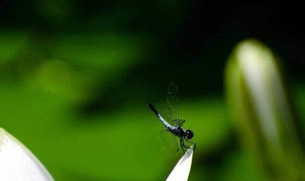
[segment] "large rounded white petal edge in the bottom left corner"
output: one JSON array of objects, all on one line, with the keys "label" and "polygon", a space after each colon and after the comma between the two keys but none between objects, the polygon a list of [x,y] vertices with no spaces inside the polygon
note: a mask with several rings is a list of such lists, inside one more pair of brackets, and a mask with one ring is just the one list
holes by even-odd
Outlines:
[{"label": "large rounded white petal edge in the bottom left corner", "polygon": [[39,160],[0,128],[0,181],[54,181]]}]

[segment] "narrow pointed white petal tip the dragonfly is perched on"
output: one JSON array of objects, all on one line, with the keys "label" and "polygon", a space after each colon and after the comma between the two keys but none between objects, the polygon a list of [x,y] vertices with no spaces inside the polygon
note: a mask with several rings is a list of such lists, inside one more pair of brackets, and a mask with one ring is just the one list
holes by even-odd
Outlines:
[{"label": "narrow pointed white petal tip the dragonfly is perched on", "polygon": [[176,164],[175,168],[171,171],[166,181],[187,181],[190,168],[192,165],[193,152],[196,146],[192,145],[191,148],[185,152],[183,157]]}]

